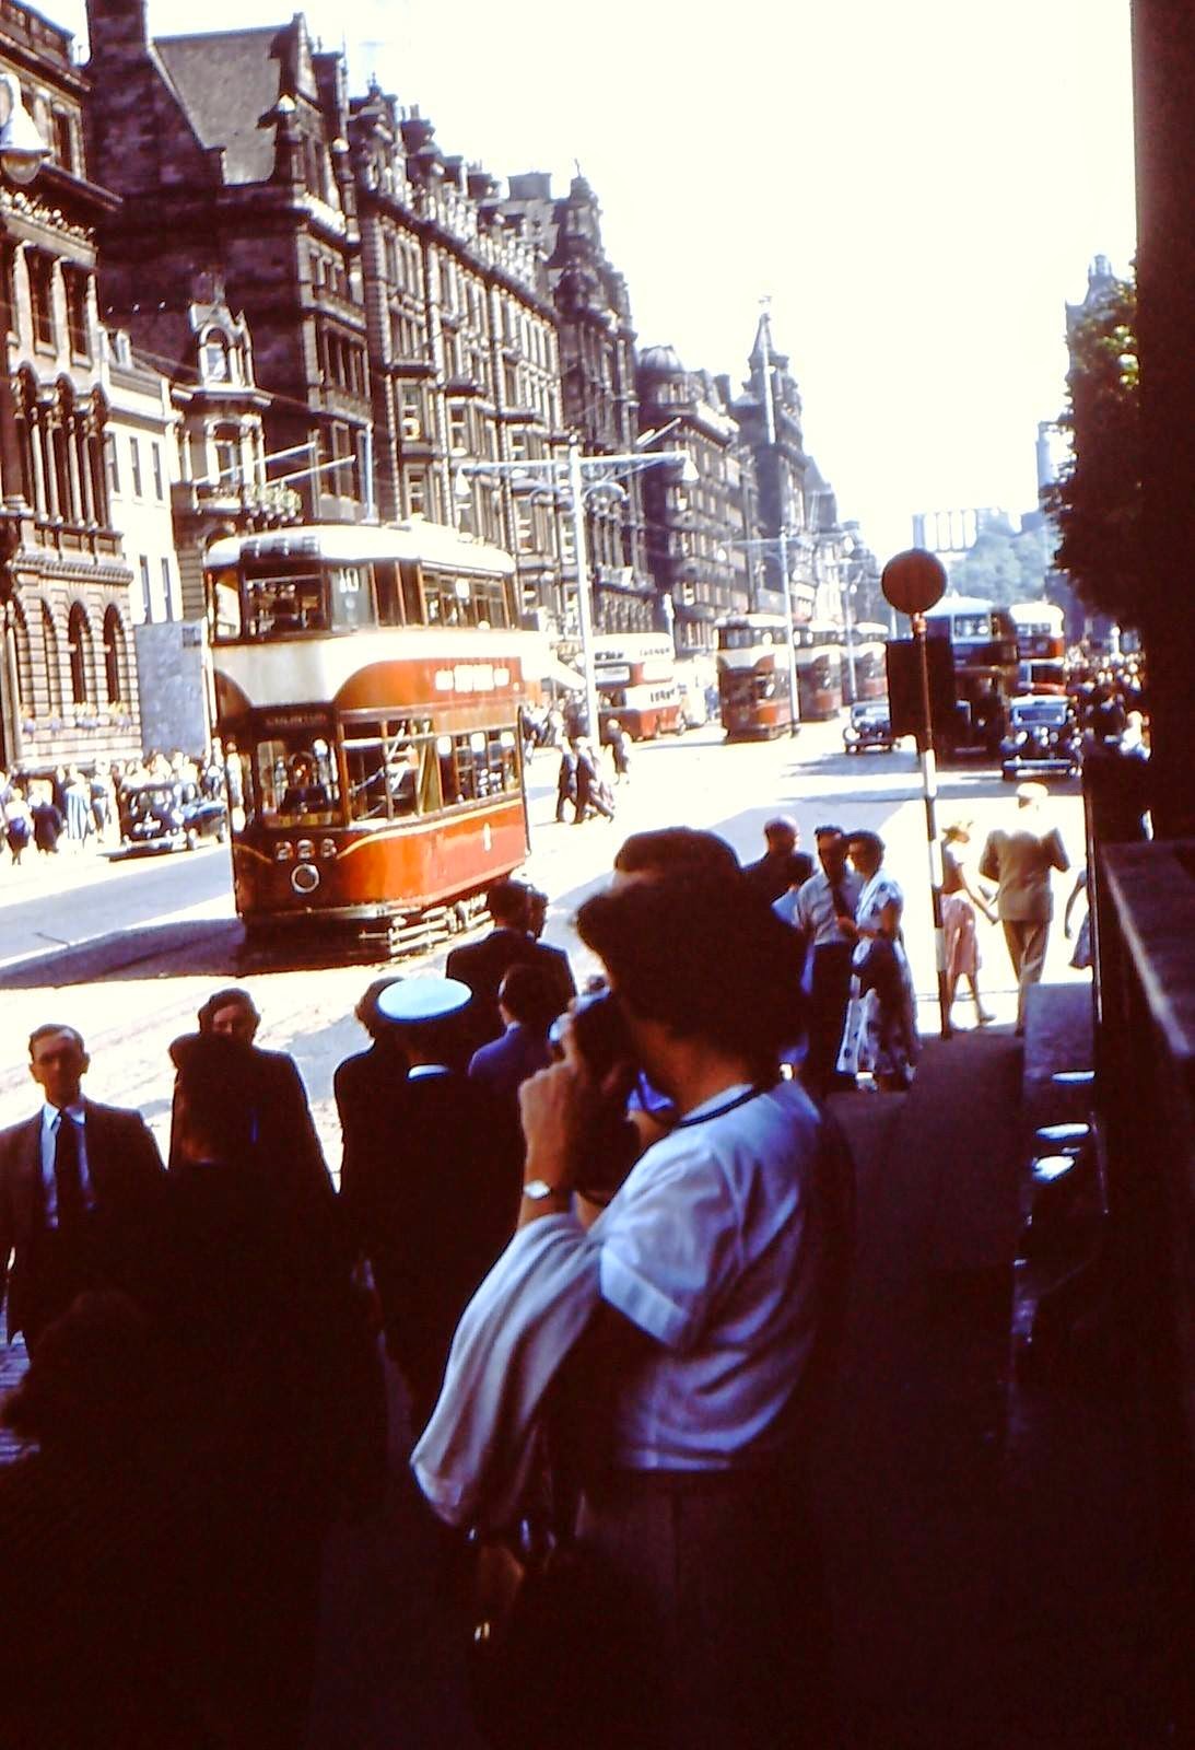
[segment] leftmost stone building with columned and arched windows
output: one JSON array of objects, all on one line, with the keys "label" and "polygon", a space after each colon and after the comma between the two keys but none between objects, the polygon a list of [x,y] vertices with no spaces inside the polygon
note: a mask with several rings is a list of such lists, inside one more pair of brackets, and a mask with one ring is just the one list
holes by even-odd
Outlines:
[{"label": "leftmost stone building with columned and arched windows", "polygon": [[84,154],[70,40],[0,0],[0,108],[23,105],[45,145],[24,184],[0,172],[0,766],[23,772],[140,752],[94,290],[96,228],[115,203]]}]

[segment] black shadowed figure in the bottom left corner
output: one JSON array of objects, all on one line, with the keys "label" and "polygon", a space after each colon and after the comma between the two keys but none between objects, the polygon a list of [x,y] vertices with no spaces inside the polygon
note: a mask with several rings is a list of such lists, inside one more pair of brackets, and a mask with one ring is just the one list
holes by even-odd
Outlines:
[{"label": "black shadowed figure in the bottom left corner", "polygon": [[145,1314],[89,1293],[47,1326],[3,1405],[40,1444],[0,1470],[5,1750],[234,1743],[198,1650],[194,1558],[210,1524],[168,1377]]}]

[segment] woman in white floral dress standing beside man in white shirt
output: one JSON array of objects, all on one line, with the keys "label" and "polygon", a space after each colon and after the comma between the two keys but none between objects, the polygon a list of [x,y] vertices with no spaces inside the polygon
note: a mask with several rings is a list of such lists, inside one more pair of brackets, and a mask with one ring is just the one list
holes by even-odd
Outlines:
[{"label": "woman in white floral dress standing beside man in white shirt", "polygon": [[884,868],[877,833],[850,835],[850,861],[863,877],[863,892],[856,915],[838,919],[856,942],[838,1071],[870,1071],[882,1092],[894,1094],[910,1085],[919,1052],[913,978],[901,940],[905,894]]}]

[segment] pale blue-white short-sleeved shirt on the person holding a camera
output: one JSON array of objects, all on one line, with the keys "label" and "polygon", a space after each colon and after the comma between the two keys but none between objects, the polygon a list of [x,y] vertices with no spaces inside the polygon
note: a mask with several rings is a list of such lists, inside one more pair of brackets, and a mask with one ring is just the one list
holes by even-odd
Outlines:
[{"label": "pale blue-white short-sleeved shirt on the person holding a camera", "polygon": [[819,1118],[793,1082],[744,1094],[688,1113],[593,1225],[602,1297],[656,1339],[618,1396],[625,1468],[728,1470],[770,1452],[808,1360]]}]

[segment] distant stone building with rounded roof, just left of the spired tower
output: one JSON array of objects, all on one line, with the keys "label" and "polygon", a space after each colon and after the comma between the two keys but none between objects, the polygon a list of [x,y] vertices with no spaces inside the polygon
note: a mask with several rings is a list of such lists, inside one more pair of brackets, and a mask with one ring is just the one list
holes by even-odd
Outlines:
[{"label": "distant stone building with rounded roof, just left of the spired tower", "polygon": [[677,654],[703,654],[714,649],[716,621],[751,600],[751,462],[716,382],[686,371],[672,346],[647,346],[639,360],[639,420],[644,436],[691,462],[691,481],[660,466],[644,472],[642,492],[647,564]]}]

